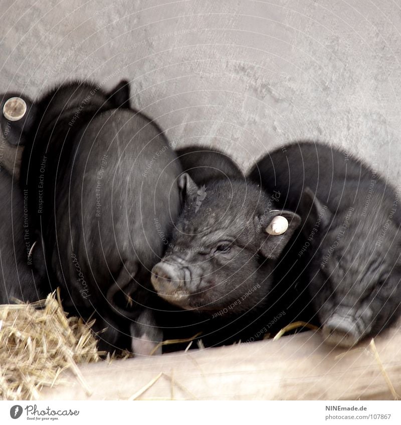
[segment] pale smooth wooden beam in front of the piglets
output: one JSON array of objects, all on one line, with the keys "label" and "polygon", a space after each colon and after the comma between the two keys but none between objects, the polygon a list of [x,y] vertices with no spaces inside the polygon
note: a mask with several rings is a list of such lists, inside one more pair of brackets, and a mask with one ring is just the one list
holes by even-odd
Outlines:
[{"label": "pale smooth wooden beam in front of the piglets", "polygon": [[401,394],[401,331],[389,329],[374,342],[376,355],[370,339],[344,350],[323,344],[319,332],[304,332],[277,341],[86,364],[80,366],[80,371],[91,389],[90,395],[75,375],[66,373],[66,384],[44,388],[41,397],[394,399],[394,391]]}]

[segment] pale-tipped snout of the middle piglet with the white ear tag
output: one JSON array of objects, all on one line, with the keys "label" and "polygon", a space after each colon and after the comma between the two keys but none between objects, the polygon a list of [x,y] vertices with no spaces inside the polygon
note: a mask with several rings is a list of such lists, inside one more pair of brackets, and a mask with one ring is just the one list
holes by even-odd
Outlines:
[{"label": "pale-tipped snout of the middle piglet with the white ear tag", "polygon": [[182,306],[189,295],[185,288],[185,280],[190,280],[189,276],[185,276],[188,273],[186,269],[161,261],[152,269],[152,285],[160,297]]}]

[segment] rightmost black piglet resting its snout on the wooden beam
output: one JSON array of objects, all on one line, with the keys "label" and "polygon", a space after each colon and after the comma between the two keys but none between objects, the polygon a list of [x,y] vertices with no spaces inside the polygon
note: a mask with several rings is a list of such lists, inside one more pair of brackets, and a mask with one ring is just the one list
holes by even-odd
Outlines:
[{"label": "rightmost black piglet resting its snout on the wooden beam", "polygon": [[250,173],[280,208],[303,219],[286,256],[298,263],[325,340],[350,347],[388,326],[399,312],[398,193],[346,152],[299,142],[262,158]]}]

